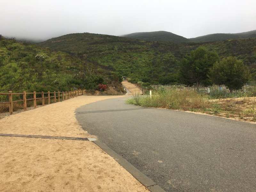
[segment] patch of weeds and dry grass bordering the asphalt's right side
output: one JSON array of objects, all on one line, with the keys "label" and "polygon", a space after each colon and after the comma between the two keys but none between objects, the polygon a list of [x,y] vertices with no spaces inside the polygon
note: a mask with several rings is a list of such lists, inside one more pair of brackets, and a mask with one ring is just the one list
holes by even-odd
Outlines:
[{"label": "patch of weeds and dry grass bordering the asphalt's right side", "polygon": [[256,97],[210,100],[206,95],[195,91],[173,89],[157,92],[151,98],[149,96],[134,96],[126,103],[144,107],[200,112],[256,122]]}]

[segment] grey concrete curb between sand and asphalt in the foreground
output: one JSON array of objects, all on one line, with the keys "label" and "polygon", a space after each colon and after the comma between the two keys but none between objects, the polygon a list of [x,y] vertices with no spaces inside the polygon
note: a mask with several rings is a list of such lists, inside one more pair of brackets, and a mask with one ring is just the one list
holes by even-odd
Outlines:
[{"label": "grey concrete curb between sand and asphalt in the foreground", "polygon": [[124,167],[132,176],[137,179],[142,185],[144,185],[151,192],[165,192],[164,189],[160,188],[154,181],[149,179],[146,175],[140,172],[132,164],[126,161],[122,156],[118,155],[115,151],[109,148],[105,143],[102,143],[100,140],[92,141],[98,145],[103,151],[108,155],[113,157],[117,163]]}]

